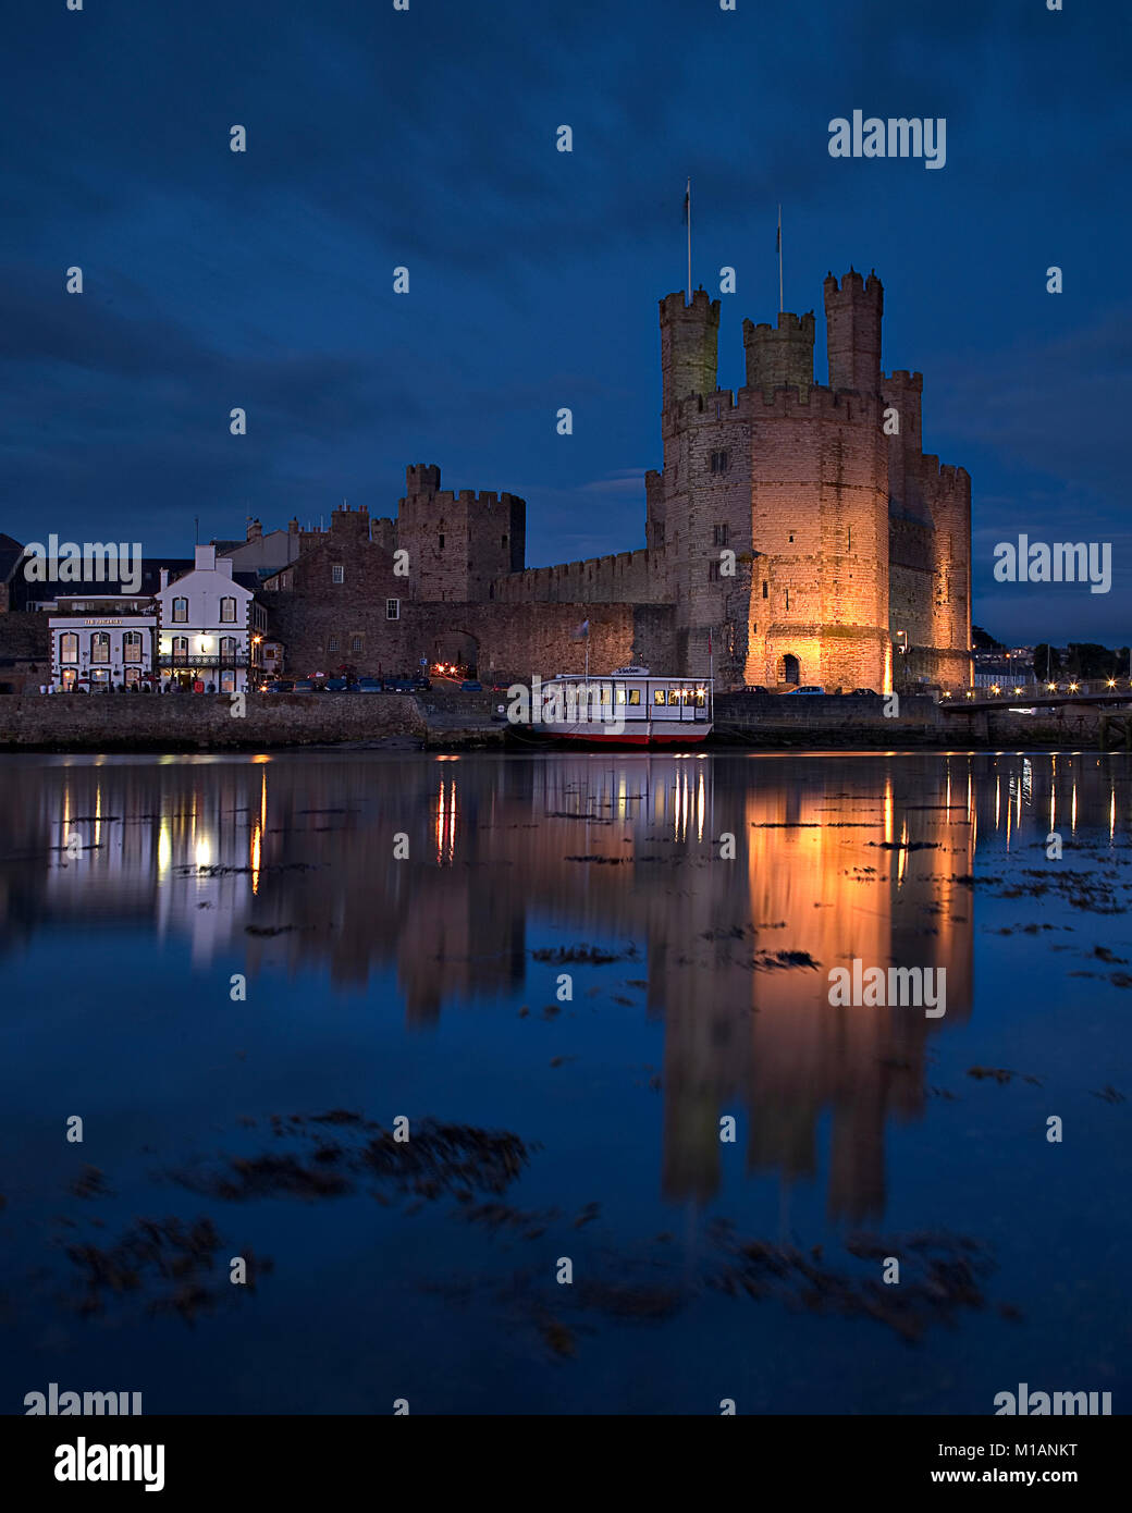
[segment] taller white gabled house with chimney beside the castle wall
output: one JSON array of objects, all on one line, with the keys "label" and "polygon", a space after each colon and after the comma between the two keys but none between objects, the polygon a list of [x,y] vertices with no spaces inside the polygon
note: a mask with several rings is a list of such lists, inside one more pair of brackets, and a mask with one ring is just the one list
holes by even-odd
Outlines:
[{"label": "taller white gabled house with chimney beside the castle wall", "polygon": [[176,682],[198,693],[242,693],[259,685],[268,611],[251,589],[236,583],[232,558],[218,558],[215,546],[198,546],[191,572],[173,583],[162,572],[156,601],[162,687]]}]

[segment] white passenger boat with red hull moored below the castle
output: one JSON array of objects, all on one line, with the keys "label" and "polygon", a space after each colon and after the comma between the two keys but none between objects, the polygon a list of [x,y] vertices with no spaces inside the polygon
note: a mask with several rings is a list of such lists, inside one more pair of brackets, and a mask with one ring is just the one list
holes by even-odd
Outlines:
[{"label": "white passenger boat with red hull moored below the castle", "polygon": [[560,672],[533,693],[533,728],[549,740],[595,746],[692,746],[707,740],[711,678],[675,678],[648,667]]}]

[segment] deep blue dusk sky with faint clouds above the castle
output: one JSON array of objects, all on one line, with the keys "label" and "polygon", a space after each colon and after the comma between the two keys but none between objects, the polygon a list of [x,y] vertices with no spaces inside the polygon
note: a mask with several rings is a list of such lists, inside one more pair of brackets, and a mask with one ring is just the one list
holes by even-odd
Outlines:
[{"label": "deep blue dusk sky with faint clouds above the castle", "polygon": [[[884,281],[884,368],[923,372],[925,446],[972,474],[975,619],[1127,643],[1129,12],[1065,6],[9,12],[0,530],[182,555],[194,516],[207,540],[342,498],[393,514],[404,466],[436,461],[527,499],[533,566],[643,545],[692,174],[693,281],[737,269],[720,383],[743,381],[743,318],[775,316],[781,201],[820,380],[822,278]],[[855,107],[944,117],[946,166],[832,159]],[[1111,542],[1112,592],[994,584],[1018,533]]]}]

